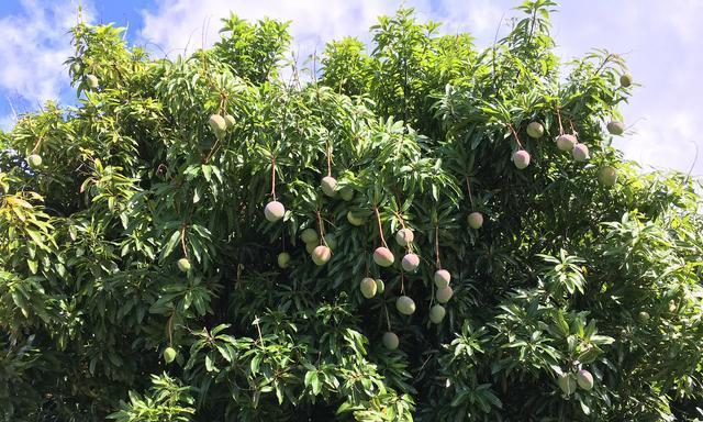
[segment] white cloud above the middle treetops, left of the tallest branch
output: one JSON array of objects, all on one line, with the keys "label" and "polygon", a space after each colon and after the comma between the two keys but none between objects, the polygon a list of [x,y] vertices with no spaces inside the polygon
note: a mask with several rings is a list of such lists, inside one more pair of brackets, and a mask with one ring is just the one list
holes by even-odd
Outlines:
[{"label": "white cloud above the middle treetops, left of the tallest branch", "polygon": [[[220,19],[234,11],[239,18],[291,21],[292,47],[305,56],[343,36],[370,41],[369,26],[381,14],[393,14],[400,0],[156,0],[154,11],[144,11],[142,42],[170,56],[210,46],[217,41]],[[443,22],[443,32],[471,31],[479,38],[493,38],[509,0],[408,0],[422,20]],[[204,29],[204,31],[203,31]],[[203,38],[204,34],[204,38]]]}]

